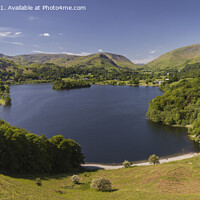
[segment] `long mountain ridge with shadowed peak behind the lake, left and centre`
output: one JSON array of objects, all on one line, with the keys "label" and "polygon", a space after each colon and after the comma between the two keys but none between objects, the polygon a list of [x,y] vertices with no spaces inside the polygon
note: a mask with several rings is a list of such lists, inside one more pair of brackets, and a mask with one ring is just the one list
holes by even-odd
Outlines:
[{"label": "long mountain ridge with shadowed peak behind the lake, left and centre", "polygon": [[[1,55],[0,55],[1,56]],[[137,69],[140,66],[132,63],[122,55],[112,53],[97,53],[88,56],[74,56],[67,54],[27,54],[19,56],[4,56],[20,65],[33,63],[54,63],[65,67],[105,67]]]}]

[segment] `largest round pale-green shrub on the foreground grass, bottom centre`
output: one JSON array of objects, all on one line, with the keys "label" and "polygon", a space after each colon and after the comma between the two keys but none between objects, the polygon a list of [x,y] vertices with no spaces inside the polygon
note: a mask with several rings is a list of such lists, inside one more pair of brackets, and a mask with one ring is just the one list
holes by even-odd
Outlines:
[{"label": "largest round pale-green shrub on the foreground grass, bottom centre", "polygon": [[112,183],[106,178],[96,178],[92,180],[90,187],[102,192],[110,191]]}]

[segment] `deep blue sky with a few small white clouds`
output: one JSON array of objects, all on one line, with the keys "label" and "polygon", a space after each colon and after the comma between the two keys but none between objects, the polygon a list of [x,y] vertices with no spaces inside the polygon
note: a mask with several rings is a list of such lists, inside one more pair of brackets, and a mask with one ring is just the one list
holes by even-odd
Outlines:
[{"label": "deep blue sky with a few small white clouds", "polygon": [[[34,9],[9,7],[20,5]],[[86,10],[46,11],[45,5]],[[0,0],[0,53],[110,52],[147,63],[200,43],[199,10],[199,0]]]}]

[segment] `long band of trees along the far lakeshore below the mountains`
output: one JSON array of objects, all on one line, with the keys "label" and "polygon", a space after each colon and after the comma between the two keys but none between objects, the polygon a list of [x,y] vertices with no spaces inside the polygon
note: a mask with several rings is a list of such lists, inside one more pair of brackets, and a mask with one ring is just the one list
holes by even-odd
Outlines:
[{"label": "long band of trees along the far lakeshore below the mountains", "polygon": [[[6,62],[6,61],[5,61]],[[159,74],[144,73],[142,71],[128,68],[106,68],[106,67],[61,67],[52,63],[33,63],[28,66],[12,65],[12,63],[0,62],[0,80],[4,82],[53,82],[62,78],[80,79],[84,76],[91,83],[101,81],[130,81],[137,84],[139,80],[154,81]],[[6,67],[7,64],[7,67]],[[114,83],[114,82],[113,82]]]}]

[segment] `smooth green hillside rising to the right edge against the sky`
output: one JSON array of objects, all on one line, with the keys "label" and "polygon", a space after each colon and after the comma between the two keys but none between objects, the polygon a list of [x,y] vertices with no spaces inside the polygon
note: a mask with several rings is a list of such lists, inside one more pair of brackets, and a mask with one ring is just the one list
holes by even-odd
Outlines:
[{"label": "smooth green hillside rising to the right edge against the sky", "polygon": [[178,69],[183,68],[184,63],[200,56],[200,44],[181,47],[161,55],[157,59],[149,62],[147,66],[153,70]]}]

